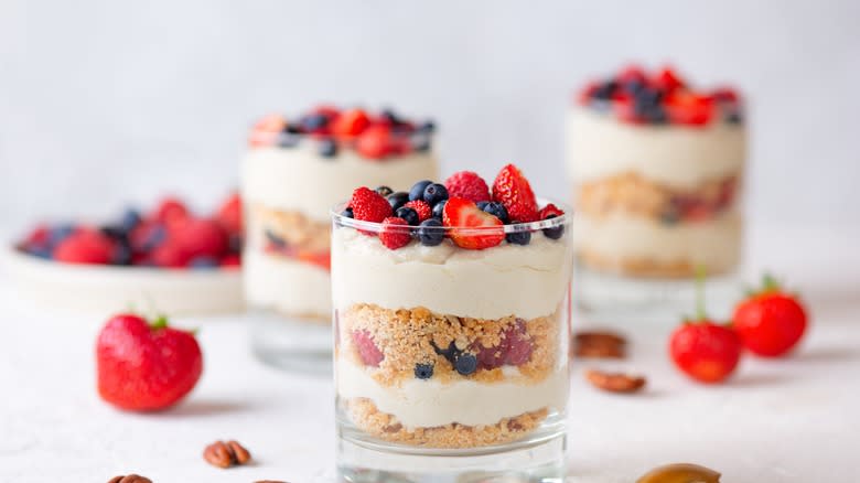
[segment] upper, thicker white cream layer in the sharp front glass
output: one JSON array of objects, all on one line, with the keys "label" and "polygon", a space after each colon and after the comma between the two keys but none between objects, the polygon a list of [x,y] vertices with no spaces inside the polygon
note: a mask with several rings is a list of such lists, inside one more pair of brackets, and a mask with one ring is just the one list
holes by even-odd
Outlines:
[{"label": "upper, thicker white cream layer in the sharp front glass", "polygon": [[335,308],[373,303],[386,309],[423,307],[475,319],[552,314],[563,300],[572,268],[570,234],[541,233],[526,246],[503,243],[484,250],[418,243],[397,250],[348,227],[332,235]]}]

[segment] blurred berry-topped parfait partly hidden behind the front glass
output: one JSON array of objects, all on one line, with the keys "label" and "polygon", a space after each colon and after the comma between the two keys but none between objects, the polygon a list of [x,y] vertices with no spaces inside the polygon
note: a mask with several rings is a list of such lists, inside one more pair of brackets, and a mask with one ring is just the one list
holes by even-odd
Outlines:
[{"label": "blurred berry-topped parfait partly hidden behind the front glass", "polygon": [[356,184],[432,178],[438,162],[429,121],[333,107],[291,119],[258,121],[243,159],[244,291],[255,352],[313,369],[331,359],[329,208]]}]

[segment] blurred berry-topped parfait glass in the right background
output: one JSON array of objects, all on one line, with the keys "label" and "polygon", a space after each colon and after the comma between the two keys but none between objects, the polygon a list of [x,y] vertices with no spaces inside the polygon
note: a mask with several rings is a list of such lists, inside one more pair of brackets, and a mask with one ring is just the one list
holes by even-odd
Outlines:
[{"label": "blurred berry-topped parfait glass in the right background", "polygon": [[697,270],[737,270],[746,126],[734,89],[631,66],[578,94],[567,142],[583,305],[670,300]]}]

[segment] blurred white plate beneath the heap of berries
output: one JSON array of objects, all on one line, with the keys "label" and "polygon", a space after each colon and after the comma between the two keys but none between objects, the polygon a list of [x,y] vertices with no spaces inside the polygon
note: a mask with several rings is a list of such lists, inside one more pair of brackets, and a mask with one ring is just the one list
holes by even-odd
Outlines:
[{"label": "blurred white plate beneath the heap of berries", "polygon": [[168,315],[244,310],[239,269],[162,269],[44,260],[7,246],[0,265],[22,297],[63,311]]}]

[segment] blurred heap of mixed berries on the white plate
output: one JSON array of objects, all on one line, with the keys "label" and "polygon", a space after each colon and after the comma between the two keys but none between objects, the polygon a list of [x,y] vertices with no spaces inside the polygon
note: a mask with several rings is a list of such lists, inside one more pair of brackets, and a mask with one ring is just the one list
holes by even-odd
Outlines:
[{"label": "blurred heap of mixed berries on the white plate", "polygon": [[104,225],[36,226],[18,249],[67,264],[160,268],[238,267],[241,202],[230,195],[212,216],[195,216],[175,197],[154,210],[127,210]]}]

